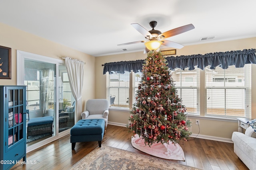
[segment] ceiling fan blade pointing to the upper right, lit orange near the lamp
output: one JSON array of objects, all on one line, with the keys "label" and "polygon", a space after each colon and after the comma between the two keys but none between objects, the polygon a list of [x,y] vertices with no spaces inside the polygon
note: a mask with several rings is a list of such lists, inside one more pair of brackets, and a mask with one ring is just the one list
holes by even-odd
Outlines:
[{"label": "ceiling fan blade pointing to the upper right, lit orange near the lamp", "polygon": [[189,31],[191,29],[194,29],[194,25],[193,24],[188,24],[188,25],[184,25],[184,26],[181,26],[181,27],[178,27],[178,28],[174,28],[174,29],[171,29],[169,31],[166,31],[160,35],[158,35],[159,38],[162,38],[162,39],[165,39],[165,38],[168,38],[168,37],[172,37],[174,35],[178,35],[178,34],[181,34],[181,33],[184,33],[186,31]]}]

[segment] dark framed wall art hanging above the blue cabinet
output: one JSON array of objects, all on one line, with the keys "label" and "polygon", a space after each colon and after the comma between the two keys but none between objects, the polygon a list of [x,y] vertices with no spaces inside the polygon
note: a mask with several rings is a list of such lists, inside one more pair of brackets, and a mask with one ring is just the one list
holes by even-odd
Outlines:
[{"label": "dark framed wall art hanging above the blue cabinet", "polygon": [[12,79],[11,48],[0,46],[0,79]]}]

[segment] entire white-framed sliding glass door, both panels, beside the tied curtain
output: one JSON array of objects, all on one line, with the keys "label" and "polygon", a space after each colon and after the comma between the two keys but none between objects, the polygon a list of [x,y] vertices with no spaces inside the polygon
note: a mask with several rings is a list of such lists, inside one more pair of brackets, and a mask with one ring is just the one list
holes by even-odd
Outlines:
[{"label": "entire white-framed sliding glass door, both panels, beside the tied curtain", "polygon": [[27,152],[69,133],[75,102],[63,60],[17,51],[17,85],[27,86],[27,126],[34,118],[53,117],[52,132],[27,137]]}]

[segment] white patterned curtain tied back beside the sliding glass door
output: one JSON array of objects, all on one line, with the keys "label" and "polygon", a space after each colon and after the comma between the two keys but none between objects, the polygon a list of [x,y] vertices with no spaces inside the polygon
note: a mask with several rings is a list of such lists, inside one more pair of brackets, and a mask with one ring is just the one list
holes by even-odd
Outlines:
[{"label": "white patterned curtain tied back beside the sliding glass door", "polygon": [[84,62],[65,57],[68,79],[72,94],[76,100],[75,123],[80,119],[82,113],[82,88],[84,82]]}]

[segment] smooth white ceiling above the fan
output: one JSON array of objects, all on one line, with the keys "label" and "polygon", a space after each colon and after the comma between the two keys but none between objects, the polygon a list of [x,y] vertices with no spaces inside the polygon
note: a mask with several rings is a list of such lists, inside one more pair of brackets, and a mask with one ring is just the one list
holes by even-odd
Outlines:
[{"label": "smooth white ceiling above the fan", "polygon": [[[167,38],[182,45],[256,37],[255,8],[256,0],[0,0],[0,22],[98,57],[143,53],[144,43],[117,44],[145,40],[130,24],[151,30],[152,20],[162,33],[192,23]],[[199,41],[208,36],[216,38]]]}]

